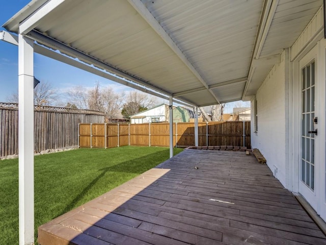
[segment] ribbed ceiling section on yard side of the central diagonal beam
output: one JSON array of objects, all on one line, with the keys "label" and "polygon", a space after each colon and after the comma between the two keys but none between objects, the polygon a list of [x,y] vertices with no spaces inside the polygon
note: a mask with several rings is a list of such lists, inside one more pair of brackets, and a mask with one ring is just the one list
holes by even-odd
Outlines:
[{"label": "ribbed ceiling section on yard side of the central diagonal beam", "polygon": [[66,2],[36,29],[168,92],[202,86],[128,2]]}]

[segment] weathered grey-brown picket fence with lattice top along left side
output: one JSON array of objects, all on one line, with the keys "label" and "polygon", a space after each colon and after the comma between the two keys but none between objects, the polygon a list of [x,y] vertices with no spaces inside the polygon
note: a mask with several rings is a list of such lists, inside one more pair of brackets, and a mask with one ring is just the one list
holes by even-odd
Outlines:
[{"label": "weathered grey-brown picket fence with lattice top along left side", "polygon": [[[101,112],[34,107],[34,150],[78,145],[78,124],[104,122]],[[18,154],[18,105],[0,103],[0,157]]]}]

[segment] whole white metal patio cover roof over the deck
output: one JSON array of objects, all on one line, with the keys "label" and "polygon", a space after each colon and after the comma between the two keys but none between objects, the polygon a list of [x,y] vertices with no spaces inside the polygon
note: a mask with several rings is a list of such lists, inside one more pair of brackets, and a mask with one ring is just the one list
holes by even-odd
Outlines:
[{"label": "whole white metal patio cover roof over the deck", "polygon": [[250,99],[321,5],[321,0],[34,0],[4,27],[205,106]]}]

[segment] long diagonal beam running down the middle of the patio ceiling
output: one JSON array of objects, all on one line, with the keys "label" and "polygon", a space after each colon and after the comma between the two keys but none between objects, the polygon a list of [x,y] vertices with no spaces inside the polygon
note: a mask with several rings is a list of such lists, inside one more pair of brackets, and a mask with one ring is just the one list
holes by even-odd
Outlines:
[{"label": "long diagonal beam running down the middle of the patio ceiling", "polygon": [[207,82],[202,78],[194,65],[189,61],[186,55],[180,50],[178,45],[172,40],[164,28],[157,22],[154,16],[149,12],[146,6],[139,0],[128,0],[129,4],[146,20],[152,29],[165,41],[171,50],[179,57],[179,59],[193,72],[195,77],[204,85],[204,87],[212,94],[216,102],[219,103],[216,95],[209,90]]}]

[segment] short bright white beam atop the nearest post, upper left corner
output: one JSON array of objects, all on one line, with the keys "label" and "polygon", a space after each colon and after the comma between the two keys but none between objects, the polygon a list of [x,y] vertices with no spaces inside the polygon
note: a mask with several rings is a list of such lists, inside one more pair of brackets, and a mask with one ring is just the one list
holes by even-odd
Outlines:
[{"label": "short bright white beam atop the nearest post, upper left corner", "polygon": [[32,31],[39,21],[42,20],[47,14],[56,9],[59,5],[61,5],[65,0],[51,0],[46,2],[43,6],[41,6],[37,11],[31,14],[27,19],[22,21],[19,24],[19,33],[27,34]]}]

